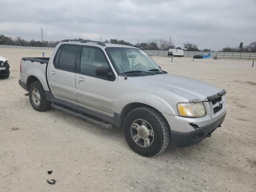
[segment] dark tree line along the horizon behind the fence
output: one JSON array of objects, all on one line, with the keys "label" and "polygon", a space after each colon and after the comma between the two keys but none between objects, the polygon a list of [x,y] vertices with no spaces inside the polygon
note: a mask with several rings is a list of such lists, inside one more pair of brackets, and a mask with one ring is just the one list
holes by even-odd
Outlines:
[{"label": "dark tree line along the horizon behind the fence", "polygon": [[[83,40],[82,38],[78,38],[77,40]],[[0,44],[1,45],[16,45],[16,46],[32,46],[32,47],[55,47],[60,41],[36,41],[34,39],[31,40],[25,40],[24,38],[21,38],[20,36],[17,36],[16,38],[7,37],[4,35],[0,35]],[[106,40],[105,43],[113,43],[113,44],[123,44],[123,45],[130,45],[133,44],[130,42],[126,42],[124,40],[117,40],[117,39],[110,39]],[[204,51],[204,52],[210,52],[210,49],[198,49],[198,46],[196,44],[192,43],[184,43],[183,48],[182,47],[176,47],[173,42],[167,41],[163,38],[160,39],[152,39],[148,40],[148,42],[141,42],[134,44],[134,46],[137,46],[141,48],[142,50],[169,50],[169,49],[183,49],[184,51]],[[231,47],[224,47],[220,52],[256,52],[256,41],[251,42],[249,45],[244,46],[242,48],[231,48]]]}]

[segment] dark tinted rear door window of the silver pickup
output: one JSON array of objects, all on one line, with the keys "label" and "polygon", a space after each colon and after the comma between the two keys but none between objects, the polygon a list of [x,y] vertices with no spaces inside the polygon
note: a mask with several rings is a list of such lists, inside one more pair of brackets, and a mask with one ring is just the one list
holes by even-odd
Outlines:
[{"label": "dark tinted rear door window of the silver pickup", "polygon": [[58,68],[74,71],[78,46],[64,45],[60,53]]}]

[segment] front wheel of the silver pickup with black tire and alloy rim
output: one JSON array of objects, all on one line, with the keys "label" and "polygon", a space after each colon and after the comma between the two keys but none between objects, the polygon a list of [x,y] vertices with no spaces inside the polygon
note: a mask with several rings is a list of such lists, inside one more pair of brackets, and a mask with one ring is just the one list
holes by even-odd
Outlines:
[{"label": "front wheel of the silver pickup with black tire and alloy rim", "polygon": [[[147,139],[141,138],[141,135],[139,134],[140,132],[143,136],[145,135],[143,132],[144,130],[142,120],[146,122],[146,129],[148,129],[146,132],[152,132],[150,130],[153,130],[154,136],[148,137],[150,140],[149,145],[147,142],[145,145],[144,142]],[[136,131],[139,137],[136,136]],[[150,134],[151,133],[147,135]],[[128,145],[132,150],[134,150],[134,152],[145,157],[151,157],[162,153],[168,146],[170,142],[170,128],[168,126],[168,123],[166,122],[166,119],[162,116],[160,112],[153,108],[140,107],[130,111],[124,119],[124,137]],[[135,141],[133,137],[138,138]]]}]

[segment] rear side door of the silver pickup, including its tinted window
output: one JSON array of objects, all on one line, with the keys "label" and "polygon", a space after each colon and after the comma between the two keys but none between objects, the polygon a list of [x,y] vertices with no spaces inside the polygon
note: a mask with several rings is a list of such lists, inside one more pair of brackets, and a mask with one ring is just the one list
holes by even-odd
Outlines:
[{"label": "rear side door of the silver pickup, including its tinted window", "polygon": [[55,98],[71,103],[76,100],[76,63],[79,45],[63,44],[49,68],[49,85]]}]

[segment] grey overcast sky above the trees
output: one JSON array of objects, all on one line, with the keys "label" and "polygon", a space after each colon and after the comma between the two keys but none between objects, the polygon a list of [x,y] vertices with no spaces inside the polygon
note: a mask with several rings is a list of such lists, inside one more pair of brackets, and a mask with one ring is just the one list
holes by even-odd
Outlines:
[{"label": "grey overcast sky above the trees", "polygon": [[0,0],[0,34],[44,40],[164,38],[198,48],[256,41],[256,0]]}]

